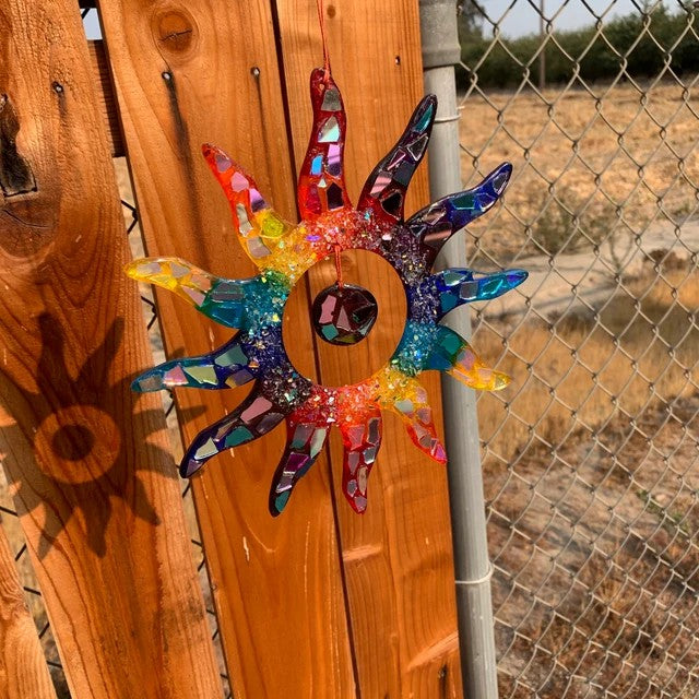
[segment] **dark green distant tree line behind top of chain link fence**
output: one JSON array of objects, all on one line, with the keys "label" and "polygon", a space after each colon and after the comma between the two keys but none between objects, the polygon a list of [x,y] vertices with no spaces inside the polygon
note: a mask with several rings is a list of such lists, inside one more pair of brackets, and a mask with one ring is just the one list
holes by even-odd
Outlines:
[{"label": "dark green distant tree line behind top of chain link fence", "polygon": [[[483,36],[477,5],[466,2],[459,19],[461,58],[466,67],[458,71],[460,87],[476,78],[485,87],[512,87],[522,82],[528,68],[536,84],[542,37],[500,39],[491,47],[493,38]],[[591,25],[556,32],[559,46],[549,38],[545,49],[546,82],[565,83],[574,74],[591,82],[611,81],[623,69],[635,79],[651,78],[666,63],[678,74],[699,73],[699,13],[691,5],[671,13],[660,4],[652,12],[604,21],[601,28]]]}]

